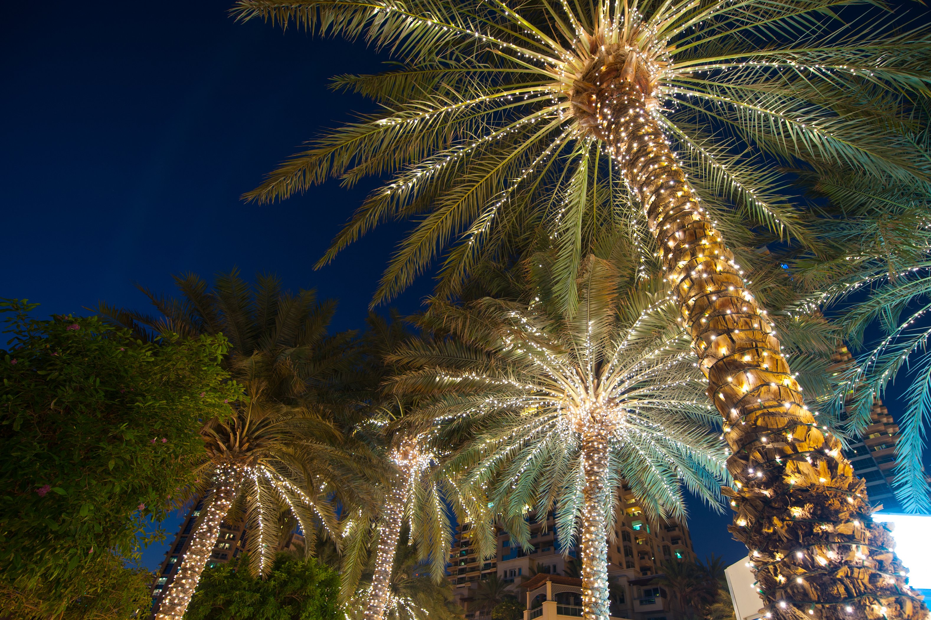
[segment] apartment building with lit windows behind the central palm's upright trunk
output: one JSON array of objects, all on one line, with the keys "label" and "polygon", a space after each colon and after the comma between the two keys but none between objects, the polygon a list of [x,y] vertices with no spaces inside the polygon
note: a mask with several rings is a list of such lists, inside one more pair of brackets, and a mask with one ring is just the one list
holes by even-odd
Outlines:
[{"label": "apartment building with lit windows behind the central palm's upright trunk", "polygon": [[[658,573],[662,573],[660,564],[664,560],[695,560],[688,528],[674,520],[656,522],[647,519],[640,501],[627,485],[623,485],[618,493],[615,513],[614,536],[609,537],[608,550],[608,575],[613,584],[611,615],[630,620],[666,620],[668,594],[665,588],[651,585],[651,582]],[[573,598],[576,589],[581,596],[582,584],[581,580],[575,579],[579,568],[574,561],[578,556],[577,547],[565,548],[552,512],[547,513],[545,519],[538,519],[535,514],[530,519],[532,549],[525,550],[512,544],[510,535],[501,531],[498,533],[497,553],[488,559],[475,554],[468,538],[469,524],[457,528],[450,552],[448,579],[456,600],[466,612],[466,618],[487,620],[491,617],[491,611],[479,609],[476,600],[480,583],[491,574],[497,574],[510,584],[514,595],[521,601],[533,591],[533,597],[527,599],[529,610],[531,605],[542,602],[541,597],[546,597],[546,584],[552,590],[554,583],[559,582],[556,583],[557,590],[566,599],[560,602],[561,611],[577,611],[575,605],[569,604],[573,601],[581,604],[581,600]],[[553,579],[548,579],[548,575]],[[578,581],[577,586],[575,581]],[[526,590],[528,585],[532,586],[531,590]],[[536,613],[535,609],[530,611]],[[556,608],[553,609],[555,613]],[[671,620],[671,616],[669,618]]]}]

